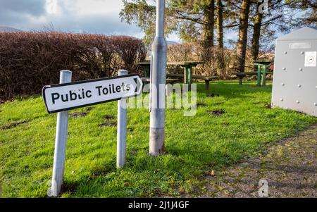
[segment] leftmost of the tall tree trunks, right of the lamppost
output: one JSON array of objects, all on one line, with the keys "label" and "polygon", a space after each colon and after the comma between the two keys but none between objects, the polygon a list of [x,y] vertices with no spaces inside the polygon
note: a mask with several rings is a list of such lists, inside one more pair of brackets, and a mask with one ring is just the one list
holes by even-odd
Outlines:
[{"label": "leftmost of the tall tree trunks, right of the lamppost", "polygon": [[203,42],[206,55],[204,58],[211,61],[211,51],[213,48],[213,26],[215,24],[215,1],[211,0],[210,4],[204,8],[204,25],[203,25]]}]

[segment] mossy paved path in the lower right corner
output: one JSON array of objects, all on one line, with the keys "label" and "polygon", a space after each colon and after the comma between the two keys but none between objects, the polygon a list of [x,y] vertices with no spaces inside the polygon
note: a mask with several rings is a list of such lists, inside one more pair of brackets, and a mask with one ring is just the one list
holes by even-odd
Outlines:
[{"label": "mossy paved path in the lower right corner", "polygon": [[206,176],[204,188],[193,196],[259,197],[259,180],[263,179],[268,182],[268,197],[317,197],[317,124],[267,152],[214,177]]}]

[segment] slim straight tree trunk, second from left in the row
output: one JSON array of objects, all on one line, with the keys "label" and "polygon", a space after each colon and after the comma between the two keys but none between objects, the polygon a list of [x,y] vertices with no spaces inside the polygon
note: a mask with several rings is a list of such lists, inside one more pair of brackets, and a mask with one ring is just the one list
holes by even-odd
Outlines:
[{"label": "slim straight tree trunk, second from left in the row", "polygon": [[218,48],[218,63],[217,70],[220,75],[225,73],[225,61],[223,58],[223,3],[221,0],[216,0],[217,4],[217,48]]}]

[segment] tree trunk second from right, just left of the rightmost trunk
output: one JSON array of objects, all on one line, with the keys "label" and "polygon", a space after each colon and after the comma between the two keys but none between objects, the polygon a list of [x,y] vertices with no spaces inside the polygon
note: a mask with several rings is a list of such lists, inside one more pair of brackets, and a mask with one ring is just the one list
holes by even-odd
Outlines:
[{"label": "tree trunk second from right, just left of the rightmost trunk", "polygon": [[247,33],[251,0],[243,0],[240,11],[239,39],[237,42],[237,71],[244,72],[247,51]]}]

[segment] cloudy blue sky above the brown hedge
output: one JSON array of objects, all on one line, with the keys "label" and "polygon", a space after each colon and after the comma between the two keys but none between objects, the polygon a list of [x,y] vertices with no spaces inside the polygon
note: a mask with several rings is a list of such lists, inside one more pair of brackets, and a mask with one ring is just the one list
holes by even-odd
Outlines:
[{"label": "cloudy blue sky above the brown hedge", "polygon": [[[0,0],[0,26],[141,38],[140,28],[121,22],[122,8],[121,0]],[[176,35],[168,39],[179,42]]]}]

